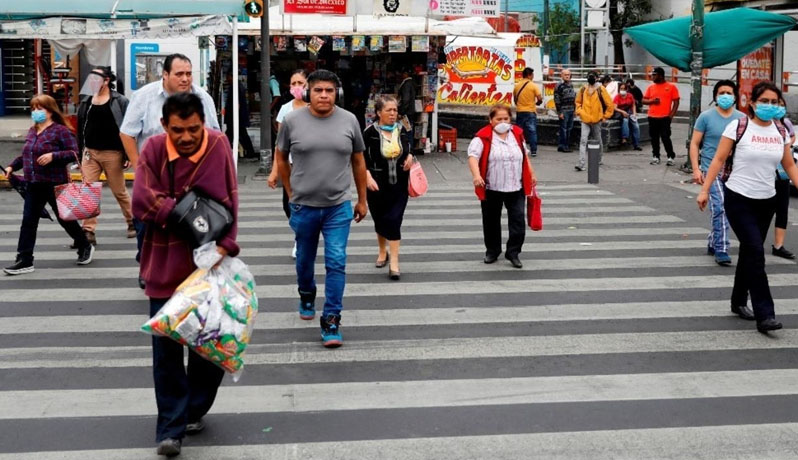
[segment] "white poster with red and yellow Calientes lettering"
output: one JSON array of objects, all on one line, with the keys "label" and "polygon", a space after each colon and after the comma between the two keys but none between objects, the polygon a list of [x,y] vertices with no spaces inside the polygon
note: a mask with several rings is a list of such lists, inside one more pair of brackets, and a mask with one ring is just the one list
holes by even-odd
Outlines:
[{"label": "white poster with red and yellow Calientes lettering", "polygon": [[452,41],[444,47],[446,64],[440,73],[438,102],[512,106],[513,88],[524,68],[531,67],[540,75],[539,45],[533,35],[515,40],[462,37]]}]

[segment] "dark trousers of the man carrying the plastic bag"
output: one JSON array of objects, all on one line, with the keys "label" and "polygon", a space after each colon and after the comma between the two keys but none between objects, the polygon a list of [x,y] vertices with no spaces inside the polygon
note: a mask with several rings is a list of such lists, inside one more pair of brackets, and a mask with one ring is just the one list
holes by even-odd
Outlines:
[{"label": "dark trousers of the man carrying the plastic bag", "polygon": [[[169,299],[150,298],[150,316]],[[152,337],[152,375],[158,425],[155,442],[182,439],[186,424],[207,414],[224,378],[222,368],[189,350],[188,368],[183,365],[183,345],[167,337]]]}]

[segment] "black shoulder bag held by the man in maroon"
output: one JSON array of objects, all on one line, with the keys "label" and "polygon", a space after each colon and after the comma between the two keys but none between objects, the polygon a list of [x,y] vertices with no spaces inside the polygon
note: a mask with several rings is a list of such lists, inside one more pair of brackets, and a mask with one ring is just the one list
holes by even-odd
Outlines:
[{"label": "black shoulder bag held by the man in maroon", "polygon": [[[169,162],[170,190],[174,190],[174,166]],[[233,213],[218,201],[189,190],[169,214],[171,226],[193,248],[219,241],[233,225]]]}]

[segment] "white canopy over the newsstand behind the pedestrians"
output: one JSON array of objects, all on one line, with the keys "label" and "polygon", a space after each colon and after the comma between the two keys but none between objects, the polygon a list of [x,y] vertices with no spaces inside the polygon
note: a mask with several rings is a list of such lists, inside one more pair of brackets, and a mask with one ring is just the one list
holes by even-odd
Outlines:
[{"label": "white canopy over the newsstand behind the pedestrians", "polygon": [[[260,35],[260,19],[241,23],[238,30],[244,35]],[[454,21],[429,19],[427,23],[426,18],[417,16],[282,15],[278,6],[269,10],[269,30],[272,35],[496,35],[481,17]]]}]

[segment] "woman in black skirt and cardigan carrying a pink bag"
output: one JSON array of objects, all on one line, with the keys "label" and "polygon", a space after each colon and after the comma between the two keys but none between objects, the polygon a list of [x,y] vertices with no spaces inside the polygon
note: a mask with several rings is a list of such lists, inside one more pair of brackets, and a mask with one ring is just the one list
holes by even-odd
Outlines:
[{"label": "woman in black skirt and cardigan carrying a pink bag", "polygon": [[380,96],[374,102],[374,110],[377,119],[363,132],[366,143],[363,154],[368,170],[369,212],[377,232],[375,266],[383,268],[389,265],[388,277],[398,281],[399,243],[408,199],[408,171],[414,159],[410,153],[410,133],[397,123],[399,111],[396,99]]}]

